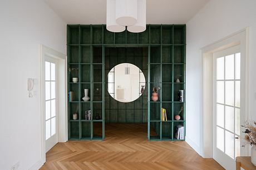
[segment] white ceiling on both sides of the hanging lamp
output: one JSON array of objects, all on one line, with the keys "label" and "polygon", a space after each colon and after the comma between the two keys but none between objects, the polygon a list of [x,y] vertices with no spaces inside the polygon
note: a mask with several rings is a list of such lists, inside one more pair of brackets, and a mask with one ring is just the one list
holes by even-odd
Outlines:
[{"label": "white ceiling on both sides of the hanging lamp", "polygon": [[[43,0],[68,24],[105,24],[106,0]],[[184,24],[210,0],[147,0],[147,23]]]}]

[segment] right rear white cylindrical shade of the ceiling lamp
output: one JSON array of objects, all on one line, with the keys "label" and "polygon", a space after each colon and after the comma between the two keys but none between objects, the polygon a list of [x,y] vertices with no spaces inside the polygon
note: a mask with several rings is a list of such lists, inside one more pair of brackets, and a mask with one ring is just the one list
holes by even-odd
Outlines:
[{"label": "right rear white cylindrical shade of the ceiling lamp", "polygon": [[143,32],[146,30],[146,0],[137,0],[137,23],[132,26],[128,26],[129,32]]}]

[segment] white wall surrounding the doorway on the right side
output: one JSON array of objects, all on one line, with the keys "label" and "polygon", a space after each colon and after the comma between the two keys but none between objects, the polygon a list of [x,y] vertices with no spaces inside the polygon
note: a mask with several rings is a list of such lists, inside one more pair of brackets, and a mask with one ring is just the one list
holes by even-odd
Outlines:
[{"label": "white wall surrounding the doorway on the right side", "polygon": [[186,139],[200,153],[202,61],[200,48],[249,28],[249,114],[256,120],[256,1],[211,0],[186,25]]}]

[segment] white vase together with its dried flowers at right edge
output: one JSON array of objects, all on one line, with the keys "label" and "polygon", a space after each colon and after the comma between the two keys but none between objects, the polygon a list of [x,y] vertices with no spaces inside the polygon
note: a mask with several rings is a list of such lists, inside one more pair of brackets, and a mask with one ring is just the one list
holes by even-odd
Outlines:
[{"label": "white vase together with its dried flowers at right edge", "polygon": [[[255,121],[245,121],[245,125],[242,125],[245,128],[244,140],[245,144],[250,144],[252,146],[252,156],[251,161],[256,166],[256,122]],[[242,147],[245,147],[245,144],[242,144]]]}]

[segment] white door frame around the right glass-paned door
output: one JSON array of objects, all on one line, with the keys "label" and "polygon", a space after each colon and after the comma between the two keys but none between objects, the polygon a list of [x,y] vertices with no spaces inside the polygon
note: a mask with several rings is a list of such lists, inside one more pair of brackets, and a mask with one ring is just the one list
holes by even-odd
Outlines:
[{"label": "white door frame around the right glass-paned door", "polygon": [[[209,44],[200,49],[201,51],[201,62],[203,66],[203,74],[201,77],[202,84],[202,107],[200,117],[200,154],[204,158],[213,157],[213,53],[227,49],[234,46],[240,46],[241,56],[244,56],[244,61],[241,58],[241,68],[245,68],[244,71],[241,69],[241,98],[244,98],[244,102],[241,103],[241,109],[245,111],[245,117],[241,117],[240,124],[244,123],[245,119],[249,119],[249,27],[244,28],[236,33],[231,34],[228,37],[220,39],[219,41]],[[242,101],[242,100],[241,100]],[[243,138],[243,134],[240,136]],[[249,148],[245,147],[241,149],[242,155],[249,154]]]}]

